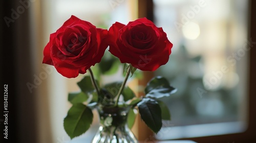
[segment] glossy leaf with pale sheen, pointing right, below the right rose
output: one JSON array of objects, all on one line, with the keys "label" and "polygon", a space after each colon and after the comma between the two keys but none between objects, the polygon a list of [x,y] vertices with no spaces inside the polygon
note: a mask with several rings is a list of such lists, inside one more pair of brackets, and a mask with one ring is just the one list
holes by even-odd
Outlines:
[{"label": "glossy leaf with pale sheen, pointing right, below the right rose", "polygon": [[145,88],[146,97],[151,98],[168,97],[176,91],[177,89],[170,86],[168,80],[163,77],[153,78]]}]

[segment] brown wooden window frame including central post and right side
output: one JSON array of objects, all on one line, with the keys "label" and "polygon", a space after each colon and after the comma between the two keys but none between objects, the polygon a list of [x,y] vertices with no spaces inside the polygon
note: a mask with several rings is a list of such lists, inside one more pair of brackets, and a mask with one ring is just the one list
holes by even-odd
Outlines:
[{"label": "brown wooden window frame including central post and right side", "polygon": [[[256,2],[249,0],[248,2],[248,38],[252,39],[252,41],[256,41],[256,28],[253,27],[256,25],[256,18],[253,16],[256,15],[256,9],[253,9],[253,7],[256,7]],[[151,19],[154,21],[154,6],[153,1],[139,1],[139,17],[147,17],[148,19]],[[254,46],[254,45],[253,45]],[[255,85],[256,76],[254,73],[256,73],[256,67],[253,66],[253,61],[256,61],[256,57],[253,56],[256,55],[255,48],[251,48],[249,51],[249,62],[248,62],[248,127],[247,130],[243,133],[234,133],[234,134],[225,134],[225,135],[214,135],[214,136],[203,136],[203,137],[193,137],[193,138],[181,138],[177,140],[183,140],[183,139],[189,139],[196,142],[251,142],[256,141],[256,112],[253,111],[253,109],[256,109],[256,104],[253,103],[256,101],[256,97],[253,96],[256,94],[255,88],[253,88],[253,85]],[[147,80],[151,79],[154,75],[149,73],[144,73],[144,81],[140,81],[140,85],[143,85],[147,82]],[[253,122],[254,121],[254,122]],[[143,129],[145,130],[145,129]],[[140,135],[141,136],[141,135]],[[145,140],[146,137],[152,136],[151,132],[145,132],[143,137],[140,137],[139,140]]]}]

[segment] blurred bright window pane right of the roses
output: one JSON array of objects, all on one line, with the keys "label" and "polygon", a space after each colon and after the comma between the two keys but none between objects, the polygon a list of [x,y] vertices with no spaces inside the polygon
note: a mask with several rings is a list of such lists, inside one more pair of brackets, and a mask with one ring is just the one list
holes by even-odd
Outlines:
[{"label": "blurred bright window pane right of the roses", "polygon": [[174,43],[156,75],[178,92],[163,99],[172,113],[158,139],[246,129],[247,1],[154,1],[155,22]]}]

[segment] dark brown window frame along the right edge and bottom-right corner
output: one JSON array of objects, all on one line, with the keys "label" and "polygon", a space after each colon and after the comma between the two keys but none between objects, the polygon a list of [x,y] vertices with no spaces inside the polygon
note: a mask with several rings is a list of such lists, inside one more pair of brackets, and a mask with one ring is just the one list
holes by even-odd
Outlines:
[{"label": "dark brown window frame along the right edge and bottom-right corner", "polygon": [[[248,5],[248,37],[251,38],[252,41],[255,41],[256,39],[256,28],[253,27],[256,25],[256,19],[253,18],[254,15],[256,15],[256,9],[253,7],[256,6],[255,1],[249,1]],[[253,56],[256,55],[255,48],[251,48],[249,51],[249,63],[248,63],[248,127],[247,130],[243,133],[236,133],[236,134],[226,134],[226,135],[216,135],[216,136],[205,136],[205,137],[195,137],[195,138],[188,138],[191,140],[194,140],[196,142],[251,142],[256,140],[255,132],[256,132],[256,114],[253,109],[256,108],[256,104],[253,103],[256,101],[256,97],[254,96],[256,94],[255,88],[253,88],[253,85],[255,85],[256,81],[256,67],[253,66],[253,61],[256,60],[256,57]]]}]

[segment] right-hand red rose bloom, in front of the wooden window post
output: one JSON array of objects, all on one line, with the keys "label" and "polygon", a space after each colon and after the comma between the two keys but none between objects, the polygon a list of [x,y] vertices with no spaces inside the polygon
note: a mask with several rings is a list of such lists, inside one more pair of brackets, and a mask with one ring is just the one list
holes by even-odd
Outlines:
[{"label": "right-hand red rose bloom, in front of the wooden window post", "polygon": [[116,22],[109,29],[110,52],[122,63],[130,63],[141,70],[154,71],[166,64],[173,44],[162,28],[139,18],[126,26]]}]

